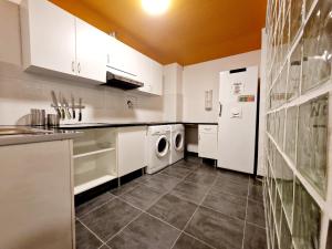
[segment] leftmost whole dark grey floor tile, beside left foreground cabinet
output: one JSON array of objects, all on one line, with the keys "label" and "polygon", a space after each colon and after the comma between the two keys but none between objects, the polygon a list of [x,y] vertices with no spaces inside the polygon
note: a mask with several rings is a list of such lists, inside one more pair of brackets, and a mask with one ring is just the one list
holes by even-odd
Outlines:
[{"label": "leftmost whole dark grey floor tile, beside left foreground cabinet", "polygon": [[81,220],[101,239],[106,240],[132,221],[141,211],[114,198],[101,208],[87,214]]}]

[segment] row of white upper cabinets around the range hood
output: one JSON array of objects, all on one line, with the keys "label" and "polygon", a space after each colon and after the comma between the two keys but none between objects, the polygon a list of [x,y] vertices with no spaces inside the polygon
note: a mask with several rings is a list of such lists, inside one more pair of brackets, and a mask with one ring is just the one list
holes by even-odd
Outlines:
[{"label": "row of white upper cabinets around the range hood", "polygon": [[21,3],[23,65],[28,71],[106,81],[107,70],[163,95],[163,65],[46,0]]}]

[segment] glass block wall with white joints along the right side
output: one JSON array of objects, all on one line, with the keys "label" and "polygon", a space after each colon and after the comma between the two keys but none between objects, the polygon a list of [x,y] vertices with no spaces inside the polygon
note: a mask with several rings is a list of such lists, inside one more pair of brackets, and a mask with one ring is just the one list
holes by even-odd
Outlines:
[{"label": "glass block wall with white joints along the right side", "polygon": [[332,248],[332,0],[269,0],[269,249]]}]

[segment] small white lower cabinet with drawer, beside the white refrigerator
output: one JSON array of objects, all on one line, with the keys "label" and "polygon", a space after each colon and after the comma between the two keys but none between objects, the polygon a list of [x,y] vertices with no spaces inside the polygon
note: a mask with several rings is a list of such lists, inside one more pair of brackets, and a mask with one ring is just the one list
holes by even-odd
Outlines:
[{"label": "small white lower cabinet with drawer, beside the white refrigerator", "polygon": [[217,159],[218,125],[198,125],[198,156]]}]

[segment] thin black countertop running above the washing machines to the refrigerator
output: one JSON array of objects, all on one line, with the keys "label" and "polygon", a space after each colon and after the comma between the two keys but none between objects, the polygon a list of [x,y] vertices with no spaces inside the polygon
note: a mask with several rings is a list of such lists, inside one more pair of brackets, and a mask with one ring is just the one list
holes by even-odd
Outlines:
[{"label": "thin black countertop running above the washing machines to the refrigerator", "polygon": [[207,122],[139,122],[139,123],[82,123],[82,124],[70,124],[60,125],[59,129],[89,129],[89,128],[111,128],[111,127],[128,127],[128,126],[154,126],[154,125],[218,125],[218,123]]}]

